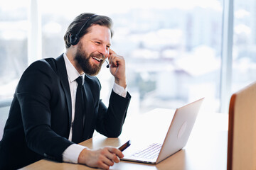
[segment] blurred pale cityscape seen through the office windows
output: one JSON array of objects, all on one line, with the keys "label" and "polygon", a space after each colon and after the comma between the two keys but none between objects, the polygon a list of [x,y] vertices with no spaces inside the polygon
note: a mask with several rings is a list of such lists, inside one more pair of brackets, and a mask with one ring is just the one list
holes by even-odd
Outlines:
[{"label": "blurred pale cityscape seen through the office windows", "polygon": [[[112,49],[127,61],[127,85],[132,94],[130,113],[153,108],[178,108],[206,97],[205,108],[218,111],[223,2],[193,8],[131,8],[110,13],[114,21]],[[234,90],[256,79],[255,40],[252,30],[256,3],[235,8]],[[253,6],[252,6],[253,4]],[[15,14],[0,7],[0,100],[11,98],[28,65],[28,8]],[[63,15],[42,13],[42,56],[65,52],[63,35],[70,21]],[[75,17],[75,16],[74,16]],[[108,102],[112,76],[105,67],[99,74],[102,99]]]}]

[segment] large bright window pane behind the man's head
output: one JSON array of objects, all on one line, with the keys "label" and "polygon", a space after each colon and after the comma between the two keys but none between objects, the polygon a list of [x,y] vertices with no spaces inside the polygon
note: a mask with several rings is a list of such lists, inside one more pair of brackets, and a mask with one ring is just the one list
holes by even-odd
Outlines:
[{"label": "large bright window pane behind the man's head", "polygon": [[[114,21],[112,49],[127,61],[131,113],[176,108],[203,96],[207,108],[218,111],[221,1],[55,1],[52,6],[62,4],[58,11],[49,3],[40,1],[43,57],[64,52],[63,35],[78,14],[107,15]],[[112,76],[102,67],[98,77],[107,103]]]}]

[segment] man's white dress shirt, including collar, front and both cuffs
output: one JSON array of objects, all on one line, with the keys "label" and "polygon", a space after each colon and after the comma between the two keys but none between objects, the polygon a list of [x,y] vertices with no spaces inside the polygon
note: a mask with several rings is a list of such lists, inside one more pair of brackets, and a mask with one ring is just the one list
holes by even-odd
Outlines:
[{"label": "man's white dress shirt, including collar, front and both cuffs", "polygon": [[[63,54],[64,61],[65,61],[65,67],[67,69],[68,74],[68,82],[70,85],[70,95],[71,95],[71,104],[72,104],[72,123],[75,118],[75,96],[76,91],[78,87],[78,83],[75,81],[78,77],[82,76],[85,77],[85,74],[80,75],[79,72],[75,69],[73,64],[71,64],[70,60],[68,60],[67,55]],[[84,79],[82,79],[82,84],[84,83]],[[119,96],[126,97],[127,96],[127,88],[124,89],[122,86],[119,86],[118,84],[114,83],[113,86],[114,93],[118,94]],[[68,140],[72,140],[72,126],[70,128],[70,135],[68,137]],[[86,147],[82,145],[73,144],[70,145],[65,151],[63,152],[63,162],[70,162],[74,164],[78,164],[78,157],[80,155],[80,152],[82,152],[82,149],[85,149]]]}]

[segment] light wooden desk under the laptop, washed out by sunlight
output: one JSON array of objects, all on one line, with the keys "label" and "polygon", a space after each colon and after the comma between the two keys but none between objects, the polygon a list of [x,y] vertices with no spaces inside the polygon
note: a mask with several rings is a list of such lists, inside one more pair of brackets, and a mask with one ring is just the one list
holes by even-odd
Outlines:
[{"label": "light wooden desk under the laptop, washed out by sunlight", "polygon": [[[80,145],[90,149],[97,149],[104,146],[119,147],[129,139],[145,141],[149,137],[157,137],[162,140],[164,139],[163,134],[165,135],[169,127],[170,117],[169,110],[163,110],[161,113],[146,113],[136,118],[128,116],[120,137],[107,138],[102,135],[96,135]],[[151,128],[151,131],[145,131],[144,127]],[[159,129],[161,132],[154,133],[156,132],[155,129]],[[228,115],[223,113],[199,113],[188,143],[181,151],[156,165],[122,161],[119,164],[114,164],[110,169],[226,169],[227,143]],[[42,159],[23,168],[23,170],[31,169],[68,170],[92,168],[79,164],[59,163]]]}]

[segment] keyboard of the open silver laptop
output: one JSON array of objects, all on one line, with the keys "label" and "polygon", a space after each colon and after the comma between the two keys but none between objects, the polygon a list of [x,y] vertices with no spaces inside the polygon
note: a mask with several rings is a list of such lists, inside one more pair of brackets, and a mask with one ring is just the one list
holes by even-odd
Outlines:
[{"label": "keyboard of the open silver laptop", "polygon": [[146,149],[143,149],[139,152],[132,154],[132,157],[154,159],[158,157],[160,150],[161,150],[161,144],[154,143],[146,147]]}]

